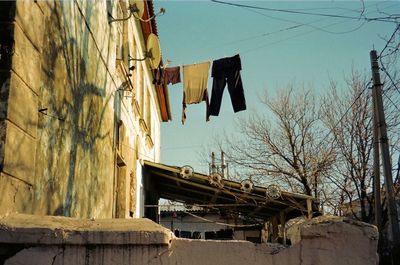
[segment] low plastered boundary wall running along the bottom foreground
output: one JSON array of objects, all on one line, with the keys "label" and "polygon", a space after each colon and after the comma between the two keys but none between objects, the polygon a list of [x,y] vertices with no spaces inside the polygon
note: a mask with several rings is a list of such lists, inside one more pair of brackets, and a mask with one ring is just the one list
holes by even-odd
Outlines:
[{"label": "low plastered boundary wall running along the bottom foreground", "polygon": [[299,240],[285,248],[246,241],[178,239],[147,219],[11,215],[0,219],[0,261],[6,265],[377,264],[377,229],[371,225],[322,217],[295,230]]}]

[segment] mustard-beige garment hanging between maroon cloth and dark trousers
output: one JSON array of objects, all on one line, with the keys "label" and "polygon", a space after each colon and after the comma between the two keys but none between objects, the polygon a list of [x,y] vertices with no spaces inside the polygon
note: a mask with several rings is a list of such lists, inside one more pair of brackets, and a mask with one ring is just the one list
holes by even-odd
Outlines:
[{"label": "mustard-beige garment hanging between maroon cloth and dark trousers", "polygon": [[182,124],[186,120],[186,105],[206,102],[206,121],[208,121],[208,72],[210,62],[183,66],[183,109]]}]

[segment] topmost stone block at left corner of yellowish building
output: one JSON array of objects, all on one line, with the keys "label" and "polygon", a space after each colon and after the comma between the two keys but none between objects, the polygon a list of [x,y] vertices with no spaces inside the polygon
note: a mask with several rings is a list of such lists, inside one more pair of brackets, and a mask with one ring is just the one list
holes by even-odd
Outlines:
[{"label": "topmost stone block at left corner of yellowish building", "polygon": [[[44,14],[38,3],[34,1],[17,1],[15,21],[29,41],[40,52],[44,32]],[[32,23],[32,21],[35,22]]]}]

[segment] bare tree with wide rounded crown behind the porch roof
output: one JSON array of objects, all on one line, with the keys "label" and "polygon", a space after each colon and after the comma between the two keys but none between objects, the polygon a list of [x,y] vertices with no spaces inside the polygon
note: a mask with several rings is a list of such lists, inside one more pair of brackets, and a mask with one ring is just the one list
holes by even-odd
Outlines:
[{"label": "bare tree with wide rounded crown behind the porch roof", "polygon": [[253,179],[318,198],[335,153],[325,143],[315,96],[289,85],[275,96],[266,94],[262,103],[264,113],[239,122],[240,140],[226,139],[230,164]]}]

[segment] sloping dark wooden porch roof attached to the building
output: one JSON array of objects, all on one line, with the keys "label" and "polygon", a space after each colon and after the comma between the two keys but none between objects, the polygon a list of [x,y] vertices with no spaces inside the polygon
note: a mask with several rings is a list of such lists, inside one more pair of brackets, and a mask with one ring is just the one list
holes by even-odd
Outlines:
[{"label": "sloping dark wooden porch roof attached to the building", "polygon": [[[285,220],[303,215],[319,215],[318,202],[311,196],[282,190],[278,190],[275,196],[268,196],[270,186],[254,186],[252,191],[244,191],[240,182],[227,179],[218,182],[196,172],[182,176],[181,171],[181,167],[145,161],[145,189],[153,198],[146,200],[145,204],[152,207],[151,202],[164,198],[188,205],[236,212],[254,220],[280,219],[282,215]],[[276,189],[276,186],[272,188]]]}]

